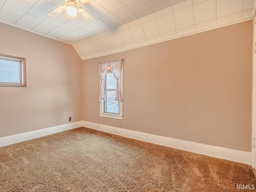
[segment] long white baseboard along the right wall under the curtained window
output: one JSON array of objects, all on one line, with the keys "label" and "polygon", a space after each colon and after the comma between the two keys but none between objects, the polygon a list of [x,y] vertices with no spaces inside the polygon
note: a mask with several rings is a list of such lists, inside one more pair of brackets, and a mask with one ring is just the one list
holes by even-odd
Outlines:
[{"label": "long white baseboard along the right wall under the curtained window", "polygon": [[201,143],[194,143],[190,141],[184,141],[164,136],[158,136],[143,132],[137,132],[132,130],[126,130],[122,128],[117,128],[113,126],[107,126],[92,122],[83,121],[82,126],[100,130],[103,132],[114,133],[115,135],[120,135],[136,140],[146,141],[154,144],[159,144],[163,146],[168,146],[176,149],[186,150],[189,152],[194,152],[198,154],[204,154],[207,156],[212,156],[216,158],[226,159],[234,162],[244,163],[251,165],[251,152],[239,151],[234,149],[228,149],[223,147],[211,146]]}]

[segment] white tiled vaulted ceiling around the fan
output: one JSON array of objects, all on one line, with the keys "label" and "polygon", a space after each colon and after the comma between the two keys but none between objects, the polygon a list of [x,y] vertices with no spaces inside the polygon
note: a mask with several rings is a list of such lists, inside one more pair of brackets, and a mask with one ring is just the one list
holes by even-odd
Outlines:
[{"label": "white tiled vaulted ceiling around the fan", "polygon": [[250,20],[256,0],[91,0],[80,4],[96,19],[56,17],[64,0],[0,0],[0,21],[74,46],[82,59]]}]

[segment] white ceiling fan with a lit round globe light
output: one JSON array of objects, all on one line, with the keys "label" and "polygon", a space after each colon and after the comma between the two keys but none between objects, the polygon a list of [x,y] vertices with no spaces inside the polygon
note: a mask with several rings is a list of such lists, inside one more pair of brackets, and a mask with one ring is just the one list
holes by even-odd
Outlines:
[{"label": "white ceiling fan with a lit round globe light", "polygon": [[50,16],[57,16],[64,10],[67,10],[67,14],[71,17],[75,17],[77,12],[80,13],[89,23],[94,23],[96,20],[82,7],[78,6],[78,4],[85,3],[91,0],[64,0],[66,4],[63,4],[56,9],[52,10],[48,13]]}]

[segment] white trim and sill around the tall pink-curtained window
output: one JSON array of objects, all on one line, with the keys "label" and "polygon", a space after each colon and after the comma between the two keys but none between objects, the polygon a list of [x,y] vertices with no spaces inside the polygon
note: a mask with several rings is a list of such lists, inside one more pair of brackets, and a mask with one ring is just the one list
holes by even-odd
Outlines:
[{"label": "white trim and sill around the tall pink-curtained window", "polygon": [[[123,65],[122,65],[121,74],[120,74],[120,78],[119,78],[119,84],[120,84],[122,96],[124,98],[124,95],[123,95]],[[104,101],[100,101],[100,117],[123,120],[123,102],[119,103],[119,115],[118,115],[118,114],[104,113]]]}]

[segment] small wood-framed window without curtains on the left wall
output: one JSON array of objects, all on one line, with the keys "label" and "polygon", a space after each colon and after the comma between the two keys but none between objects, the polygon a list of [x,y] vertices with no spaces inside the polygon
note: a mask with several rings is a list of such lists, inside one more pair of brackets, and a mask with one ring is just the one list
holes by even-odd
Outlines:
[{"label": "small wood-framed window without curtains on the left wall", "polygon": [[26,87],[26,59],[0,55],[0,86]]}]

